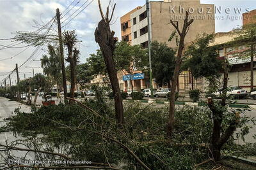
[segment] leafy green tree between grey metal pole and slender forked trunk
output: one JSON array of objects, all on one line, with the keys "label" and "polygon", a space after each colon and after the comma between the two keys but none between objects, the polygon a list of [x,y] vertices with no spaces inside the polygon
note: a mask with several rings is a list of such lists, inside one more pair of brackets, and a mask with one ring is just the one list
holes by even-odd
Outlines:
[{"label": "leafy green tree between grey metal pole and slender forked trunk", "polygon": [[151,44],[153,78],[160,86],[171,87],[175,68],[175,51],[165,43],[153,41]]}]

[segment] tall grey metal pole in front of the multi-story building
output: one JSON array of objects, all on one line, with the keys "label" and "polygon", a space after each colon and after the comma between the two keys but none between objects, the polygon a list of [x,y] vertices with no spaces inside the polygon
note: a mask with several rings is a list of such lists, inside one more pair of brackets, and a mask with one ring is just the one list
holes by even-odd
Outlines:
[{"label": "tall grey metal pole in front of the multi-story building", "polygon": [[153,94],[153,76],[152,76],[152,63],[151,63],[151,39],[150,39],[150,20],[149,20],[149,2],[146,0],[147,19],[148,19],[148,57],[149,57],[149,78],[150,78],[150,97],[154,99]]}]

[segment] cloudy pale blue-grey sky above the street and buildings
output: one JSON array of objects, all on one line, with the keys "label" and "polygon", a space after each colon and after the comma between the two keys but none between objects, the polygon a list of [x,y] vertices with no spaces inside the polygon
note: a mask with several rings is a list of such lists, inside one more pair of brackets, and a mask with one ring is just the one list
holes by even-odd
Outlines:
[{"label": "cloudy pale blue-grey sky above the street and buildings", "polygon": [[[72,2],[73,3],[62,15],[63,18],[61,22],[62,25],[65,25],[63,31],[76,31],[77,38],[81,41],[76,45],[81,52],[81,63],[86,62],[86,58],[90,56],[90,53],[95,53],[95,51],[99,49],[94,38],[95,28],[101,18],[97,0],[92,1],[92,3],[82,11],[90,1],[92,0],[88,0],[87,2],[86,0],[0,0],[0,83],[6,77],[6,73],[15,68],[16,63],[18,66],[23,64],[36,49],[33,46],[24,47],[26,44],[15,46],[19,48],[4,48],[4,46],[10,45],[13,42],[11,40],[1,39],[13,38],[17,31],[36,31],[36,25],[44,25],[54,17],[56,8],[60,8],[60,12],[62,13]],[[109,0],[101,1],[102,8],[106,9]],[[143,6],[145,0],[115,0],[115,3],[116,10],[111,29],[116,32],[115,36],[121,39],[120,17],[137,6]],[[247,10],[256,9],[256,0],[201,0],[201,3],[214,4],[218,8],[221,6],[223,10],[226,8],[231,9],[230,14],[216,14],[216,17],[219,17],[219,19],[215,20],[216,32],[231,31],[242,25],[242,15],[236,14],[232,9],[241,8],[242,12],[245,12],[246,8]],[[82,4],[84,4],[84,6],[79,8]],[[76,13],[74,13],[75,11]],[[81,11],[81,13],[75,17],[79,11]],[[69,20],[71,21],[68,22]],[[53,28],[56,29],[54,26]],[[35,73],[42,73],[42,68],[38,68],[40,67],[40,61],[38,60],[46,53],[47,45],[41,46],[35,54],[35,57],[33,57],[34,60],[28,60],[28,62],[20,67],[19,72],[21,80],[24,79],[24,74],[26,74],[27,78],[33,76],[31,67],[35,67]],[[12,59],[10,59],[10,57],[12,57]],[[12,74],[13,84],[15,84],[16,79],[15,74]]]}]

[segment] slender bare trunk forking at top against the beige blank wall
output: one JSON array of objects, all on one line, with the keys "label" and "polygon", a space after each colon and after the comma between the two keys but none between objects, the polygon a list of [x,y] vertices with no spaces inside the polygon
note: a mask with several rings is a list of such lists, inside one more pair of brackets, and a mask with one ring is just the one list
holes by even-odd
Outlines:
[{"label": "slender bare trunk forking at top against the beige blank wall", "polygon": [[186,18],[184,20],[184,25],[182,32],[180,32],[179,25],[177,22],[177,25],[171,20],[171,23],[173,27],[177,30],[180,36],[179,40],[179,49],[177,53],[177,58],[176,58],[176,63],[175,63],[175,69],[172,77],[172,87],[171,87],[171,92],[170,92],[170,111],[169,111],[169,119],[168,119],[168,127],[167,127],[167,136],[169,138],[172,137],[172,132],[173,132],[173,127],[174,127],[174,109],[175,109],[175,91],[177,87],[177,81],[178,81],[178,76],[180,72],[180,64],[181,64],[181,57],[182,57],[182,52],[184,50],[184,39],[186,37],[186,34],[188,33],[189,25],[192,24],[194,20],[189,20],[188,21],[188,11],[186,11]]}]

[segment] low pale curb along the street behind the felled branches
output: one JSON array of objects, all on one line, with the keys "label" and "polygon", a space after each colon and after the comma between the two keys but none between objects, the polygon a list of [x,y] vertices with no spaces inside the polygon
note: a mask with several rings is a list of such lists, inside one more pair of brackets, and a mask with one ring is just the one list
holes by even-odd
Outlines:
[{"label": "low pale curb along the street behind the felled branches", "polygon": [[[140,103],[156,103],[156,104],[169,104],[168,101],[147,101],[147,100],[124,100],[127,102],[140,102]],[[176,105],[188,105],[188,106],[207,106],[206,103],[200,102],[200,103],[193,103],[193,102],[180,102],[175,101]],[[230,108],[251,108],[253,110],[256,110],[256,105],[249,105],[249,104],[230,104]]]}]

